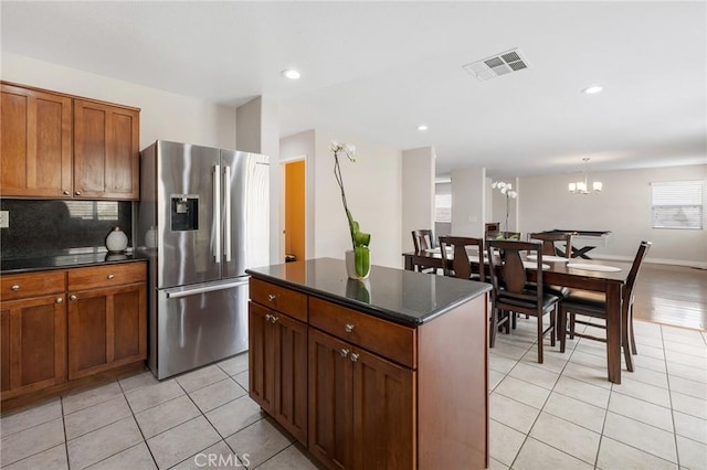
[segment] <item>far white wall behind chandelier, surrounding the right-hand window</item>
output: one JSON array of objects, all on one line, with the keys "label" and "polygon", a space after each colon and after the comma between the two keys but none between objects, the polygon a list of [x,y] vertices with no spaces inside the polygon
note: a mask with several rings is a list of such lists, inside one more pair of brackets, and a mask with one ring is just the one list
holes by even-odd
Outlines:
[{"label": "far white wall behind chandelier, surrounding the right-hand window", "polygon": [[[651,182],[705,181],[703,211],[707,209],[707,165],[592,172],[601,181],[599,194],[570,194],[569,175],[521,178],[519,218],[523,232],[609,229],[606,247],[590,256],[632,259],[641,241],[653,242],[648,261],[707,267],[707,232],[652,228]],[[577,178],[574,178],[577,179]],[[703,212],[704,214],[704,212]]]}]

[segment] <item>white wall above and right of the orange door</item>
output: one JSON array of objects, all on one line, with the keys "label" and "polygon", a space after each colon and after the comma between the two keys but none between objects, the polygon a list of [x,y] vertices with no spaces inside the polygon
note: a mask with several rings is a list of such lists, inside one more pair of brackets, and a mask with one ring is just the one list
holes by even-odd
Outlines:
[{"label": "white wall above and right of the orange door", "polygon": [[[281,163],[294,158],[305,157],[305,257],[313,258],[315,253],[315,201],[316,185],[312,182],[315,178],[315,131],[305,130],[304,132],[279,139],[279,161]],[[284,194],[284,193],[283,193]],[[281,197],[282,200],[282,197]],[[283,201],[284,202],[284,201]]]}]

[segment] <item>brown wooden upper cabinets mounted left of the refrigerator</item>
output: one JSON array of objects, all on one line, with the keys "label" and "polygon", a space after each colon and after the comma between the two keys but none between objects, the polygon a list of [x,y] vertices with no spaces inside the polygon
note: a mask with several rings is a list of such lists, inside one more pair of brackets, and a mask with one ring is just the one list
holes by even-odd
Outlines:
[{"label": "brown wooden upper cabinets mounted left of the refrigerator", "polygon": [[140,110],[2,83],[3,197],[139,199]]}]

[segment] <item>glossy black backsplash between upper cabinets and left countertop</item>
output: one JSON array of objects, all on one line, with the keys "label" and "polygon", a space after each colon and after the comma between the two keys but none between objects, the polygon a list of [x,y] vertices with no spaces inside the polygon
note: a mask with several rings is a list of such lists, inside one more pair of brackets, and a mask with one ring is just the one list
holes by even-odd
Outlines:
[{"label": "glossy black backsplash between upper cabinets and left countertop", "polygon": [[133,246],[133,203],[126,201],[0,200],[10,226],[0,228],[2,258],[32,258],[105,249],[113,227]]}]

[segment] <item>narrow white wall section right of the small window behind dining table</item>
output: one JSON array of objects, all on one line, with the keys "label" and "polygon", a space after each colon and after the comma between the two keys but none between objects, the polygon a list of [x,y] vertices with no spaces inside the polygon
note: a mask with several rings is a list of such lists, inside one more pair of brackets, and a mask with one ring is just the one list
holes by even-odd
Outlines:
[{"label": "narrow white wall section right of the small window behind dining table", "polygon": [[452,234],[484,236],[486,169],[452,171]]}]

